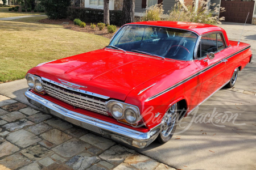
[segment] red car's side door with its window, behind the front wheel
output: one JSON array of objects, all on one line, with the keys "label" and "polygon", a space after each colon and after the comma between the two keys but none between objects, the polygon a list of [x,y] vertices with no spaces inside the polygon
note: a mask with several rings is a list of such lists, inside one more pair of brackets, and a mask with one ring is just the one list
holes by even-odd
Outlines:
[{"label": "red car's side door with its window, behind the front wheel", "polygon": [[[217,37],[218,33],[202,36],[199,49],[197,50],[195,63],[201,69],[202,77],[199,104],[224,84],[226,63],[223,59],[226,56],[221,53],[222,47],[220,42],[218,44]],[[213,59],[207,58],[207,54],[210,52],[214,53]]]}]

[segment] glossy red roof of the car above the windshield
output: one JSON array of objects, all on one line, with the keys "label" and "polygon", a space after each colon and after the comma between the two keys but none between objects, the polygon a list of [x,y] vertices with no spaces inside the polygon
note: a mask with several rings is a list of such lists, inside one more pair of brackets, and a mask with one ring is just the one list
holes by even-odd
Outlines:
[{"label": "glossy red roof of the car above the windshield", "polygon": [[[152,26],[158,26],[158,27],[186,29],[188,31],[196,32],[198,35],[203,35],[204,33],[213,32],[213,31],[223,31],[222,28],[217,27],[216,25],[203,24],[203,23],[150,21],[150,22],[135,22],[135,23],[129,23],[129,24],[152,25]],[[126,25],[129,25],[129,24],[126,24]]]}]

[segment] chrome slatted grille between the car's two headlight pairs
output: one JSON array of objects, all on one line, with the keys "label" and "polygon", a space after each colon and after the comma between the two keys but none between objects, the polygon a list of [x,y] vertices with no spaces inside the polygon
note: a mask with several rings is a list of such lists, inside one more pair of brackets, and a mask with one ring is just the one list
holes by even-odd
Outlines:
[{"label": "chrome slatted grille between the car's two headlight pairs", "polygon": [[105,108],[105,101],[102,99],[79,94],[78,92],[61,88],[46,81],[43,81],[42,84],[47,94],[52,97],[65,101],[66,103],[71,104],[75,107],[88,109],[90,111],[108,115]]}]

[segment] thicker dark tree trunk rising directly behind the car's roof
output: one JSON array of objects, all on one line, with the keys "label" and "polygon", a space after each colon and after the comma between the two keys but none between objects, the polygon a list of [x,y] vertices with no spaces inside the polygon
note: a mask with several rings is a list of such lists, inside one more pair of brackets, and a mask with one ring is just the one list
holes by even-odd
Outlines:
[{"label": "thicker dark tree trunk rising directly behind the car's roof", "polygon": [[134,22],[135,0],[123,0],[123,24]]}]

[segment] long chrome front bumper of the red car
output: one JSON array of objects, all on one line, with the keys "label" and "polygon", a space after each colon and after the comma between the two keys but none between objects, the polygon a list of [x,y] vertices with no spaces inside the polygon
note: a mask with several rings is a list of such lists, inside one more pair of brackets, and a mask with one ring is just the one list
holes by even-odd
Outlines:
[{"label": "long chrome front bumper of the red car", "polygon": [[77,126],[94,131],[103,137],[113,139],[138,148],[144,148],[150,145],[161,131],[162,124],[155,126],[147,133],[125,128],[115,125],[97,118],[89,117],[81,113],[70,111],[49,100],[44,99],[30,91],[26,91],[24,95],[28,101],[36,107],[43,108],[47,113],[60,117],[65,121],[71,122]]}]

